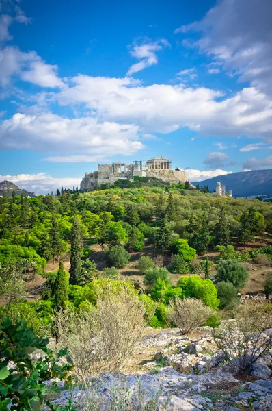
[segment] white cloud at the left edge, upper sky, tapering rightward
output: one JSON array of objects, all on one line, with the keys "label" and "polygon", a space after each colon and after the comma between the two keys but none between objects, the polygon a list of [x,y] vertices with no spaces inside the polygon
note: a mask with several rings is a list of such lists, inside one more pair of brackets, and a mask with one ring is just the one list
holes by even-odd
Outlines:
[{"label": "white cloud at the left edge, upper sky, tapering rightward", "polygon": [[46,64],[35,51],[24,53],[13,46],[5,47],[0,50],[0,64],[1,86],[8,86],[14,76],[41,87],[64,86],[57,77],[57,66]]}]

